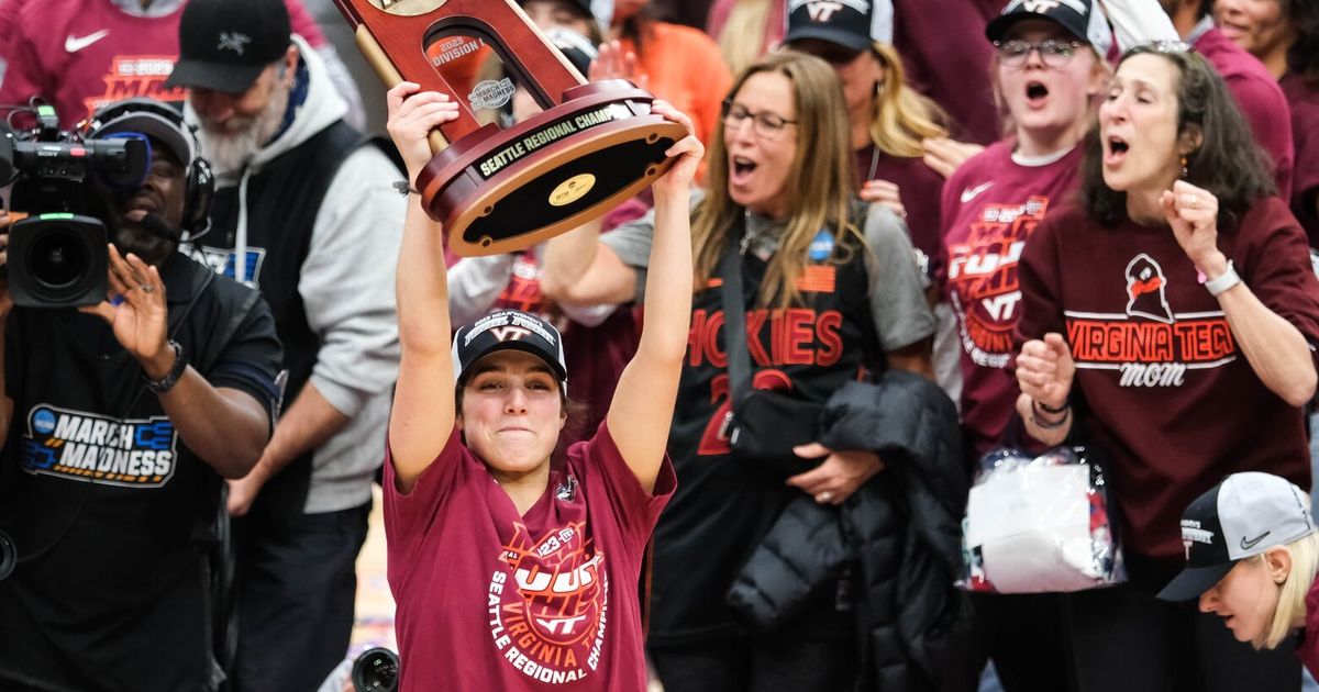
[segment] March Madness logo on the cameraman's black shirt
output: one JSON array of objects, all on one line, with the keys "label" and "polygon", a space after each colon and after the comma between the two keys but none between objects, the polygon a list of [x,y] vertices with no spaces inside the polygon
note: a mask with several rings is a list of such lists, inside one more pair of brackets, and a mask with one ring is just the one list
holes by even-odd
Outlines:
[{"label": "March Madness logo on the cameraman's black shirt", "polygon": [[177,460],[178,435],[168,417],[121,420],[37,405],[28,413],[18,464],[33,475],[160,488]]}]

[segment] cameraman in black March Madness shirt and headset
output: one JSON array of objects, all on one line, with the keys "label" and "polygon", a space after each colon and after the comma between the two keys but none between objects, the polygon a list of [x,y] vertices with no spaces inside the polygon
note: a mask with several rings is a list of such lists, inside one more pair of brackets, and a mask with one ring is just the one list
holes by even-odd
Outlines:
[{"label": "cameraman in black March Madness shirt and headset", "polygon": [[136,190],[87,186],[107,301],[15,310],[0,282],[0,688],[215,689],[207,554],[223,478],[269,439],[280,344],[255,291],[175,252],[211,183],[178,116],[137,99],[92,127],[152,144]]}]

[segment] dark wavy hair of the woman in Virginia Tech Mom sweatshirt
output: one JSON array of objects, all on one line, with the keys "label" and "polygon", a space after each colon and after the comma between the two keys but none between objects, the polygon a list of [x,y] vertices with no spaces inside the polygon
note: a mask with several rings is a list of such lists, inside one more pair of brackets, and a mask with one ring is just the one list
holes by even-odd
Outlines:
[{"label": "dark wavy hair of the woman in Virginia Tech Mom sweatshirt", "polygon": [[[1250,125],[1228,92],[1227,84],[1204,57],[1169,50],[1159,43],[1134,46],[1122,54],[1119,69],[1134,55],[1153,54],[1178,70],[1177,134],[1199,136],[1199,146],[1187,154],[1186,182],[1219,199],[1219,229],[1236,228],[1241,215],[1257,199],[1277,194],[1269,156],[1250,134]],[[1099,123],[1086,134],[1080,202],[1091,217],[1116,225],[1126,216],[1126,192],[1104,183],[1104,152]]]}]

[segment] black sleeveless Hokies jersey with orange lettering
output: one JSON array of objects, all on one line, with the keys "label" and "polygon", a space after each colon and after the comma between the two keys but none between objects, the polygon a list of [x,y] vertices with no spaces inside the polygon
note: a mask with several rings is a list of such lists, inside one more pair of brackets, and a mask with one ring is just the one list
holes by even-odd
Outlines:
[{"label": "black sleeveless Hokies jersey with orange lettering", "polygon": [[[853,223],[863,227],[864,216]],[[741,236],[740,227],[733,228]],[[809,261],[801,301],[786,310],[757,306],[768,264],[743,257],[747,347],[753,386],[823,403],[884,356],[871,316],[865,253],[855,240],[826,261]],[[848,261],[839,262],[839,257]],[[650,641],[660,646],[723,637],[735,627],[724,593],[794,493],[728,453],[720,424],[729,410],[721,277],[692,297],[687,356],[678,384],[669,453],[678,490],[656,530]]]}]

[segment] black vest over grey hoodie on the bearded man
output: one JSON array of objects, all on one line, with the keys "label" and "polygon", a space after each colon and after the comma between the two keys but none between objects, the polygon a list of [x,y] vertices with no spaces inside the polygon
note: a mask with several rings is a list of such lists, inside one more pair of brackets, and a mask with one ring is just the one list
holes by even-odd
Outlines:
[{"label": "black vest over grey hoodie on the bearded man", "polygon": [[[298,294],[311,231],[330,182],[361,142],[361,134],[339,120],[252,175],[247,190],[247,257],[232,256],[240,202],[236,186],[216,191],[211,231],[200,239],[199,249],[211,266],[232,277],[235,264],[243,261],[245,281],[270,303],[289,372],[284,406],[298,398],[321,351],[321,340],[307,326],[306,307]],[[303,453],[270,478],[257,494],[251,515],[299,517],[307,500],[311,456],[313,452]]]}]

